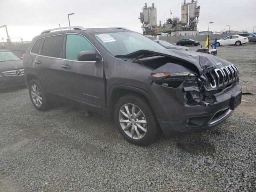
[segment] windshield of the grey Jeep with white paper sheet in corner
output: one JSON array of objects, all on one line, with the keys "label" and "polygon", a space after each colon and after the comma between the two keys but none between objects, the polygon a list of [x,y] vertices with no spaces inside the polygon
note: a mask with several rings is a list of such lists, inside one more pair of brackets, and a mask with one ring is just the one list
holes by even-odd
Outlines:
[{"label": "windshield of the grey Jeep with white paper sheet in corner", "polygon": [[166,49],[136,32],[108,32],[95,38],[114,56],[123,56],[142,49]]}]

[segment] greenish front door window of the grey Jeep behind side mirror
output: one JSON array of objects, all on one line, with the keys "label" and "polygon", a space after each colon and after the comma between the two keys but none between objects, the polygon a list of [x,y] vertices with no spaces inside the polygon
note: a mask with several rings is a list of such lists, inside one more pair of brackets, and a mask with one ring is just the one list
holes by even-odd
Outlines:
[{"label": "greenish front door window of the grey Jeep behind side mirror", "polygon": [[77,55],[81,51],[96,51],[94,46],[83,36],[68,34],[66,40],[66,59],[78,60]]}]

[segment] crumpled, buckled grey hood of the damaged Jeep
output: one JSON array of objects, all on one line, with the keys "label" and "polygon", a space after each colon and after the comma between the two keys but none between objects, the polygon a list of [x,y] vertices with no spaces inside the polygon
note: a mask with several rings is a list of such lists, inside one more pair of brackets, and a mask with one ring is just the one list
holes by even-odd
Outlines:
[{"label": "crumpled, buckled grey hood of the damaged Jeep", "polygon": [[178,60],[188,62],[196,66],[200,74],[202,74],[202,71],[208,67],[214,66],[214,68],[222,68],[224,66],[228,66],[232,64],[224,59],[221,59],[214,55],[210,55],[206,53],[200,53],[200,52],[194,52],[194,51],[170,50],[170,49],[139,50],[131,54],[128,54],[126,56],[136,56],[136,55],[139,56],[142,53],[157,54],[159,56],[166,56],[166,57],[175,58]]}]

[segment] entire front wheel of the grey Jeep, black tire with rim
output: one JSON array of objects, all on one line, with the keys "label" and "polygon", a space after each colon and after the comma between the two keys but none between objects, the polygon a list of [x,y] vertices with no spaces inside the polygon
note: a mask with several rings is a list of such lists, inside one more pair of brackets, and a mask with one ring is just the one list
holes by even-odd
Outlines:
[{"label": "entire front wheel of the grey Jeep, black tire with rim", "polygon": [[[132,112],[133,107],[134,112]],[[126,110],[127,108],[129,113]],[[140,110],[140,116],[136,117]],[[130,115],[132,115],[132,118],[130,118]],[[116,102],[114,119],[122,136],[128,142],[138,146],[151,144],[160,134],[160,128],[150,104],[138,94],[127,94]]]}]

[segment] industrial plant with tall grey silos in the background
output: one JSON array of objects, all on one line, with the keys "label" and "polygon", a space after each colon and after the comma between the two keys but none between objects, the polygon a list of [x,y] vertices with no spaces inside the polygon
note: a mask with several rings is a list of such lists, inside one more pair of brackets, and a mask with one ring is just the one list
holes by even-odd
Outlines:
[{"label": "industrial plant with tall grey silos in the background", "polygon": [[153,36],[198,35],[197,24],[200,6],[197,3],[195,0],[188,3],[184,0],[181,5],[181,19],[178,17],[167,18],[164,24],[160,21],[159,25],[157,23],[157,9],[154,3],[152,7],[147,6],[145,3],[139,16],[143,34]]}]

